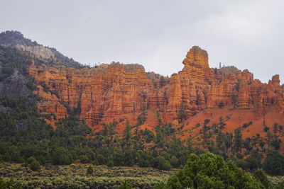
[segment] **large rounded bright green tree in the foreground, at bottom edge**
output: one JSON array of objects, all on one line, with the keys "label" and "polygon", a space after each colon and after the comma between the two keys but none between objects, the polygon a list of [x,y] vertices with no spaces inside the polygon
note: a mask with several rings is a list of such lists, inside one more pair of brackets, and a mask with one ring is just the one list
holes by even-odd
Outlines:
[{"label": "large rounded bright green tree in the foreground, at bottom edge", "polygon": [[[159,183],[159,185],[161,185]],[[265,188],[233,161],[209,152],[197,156],[190,154],[185,168],[168,179],[164,188]]]}]

